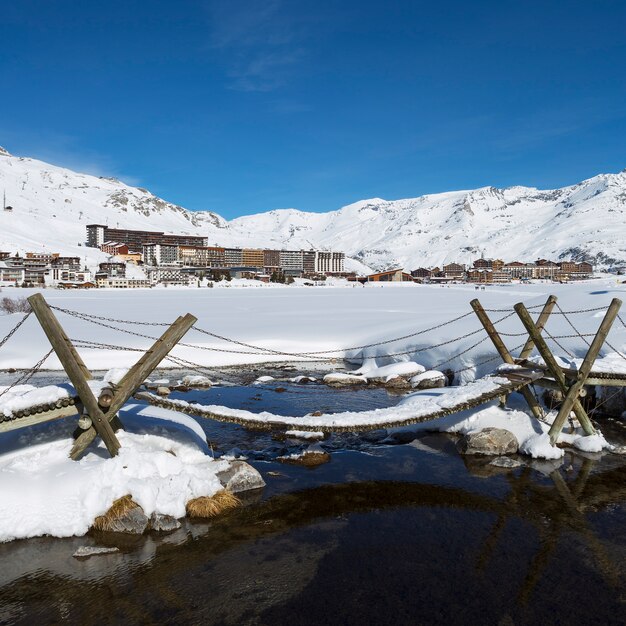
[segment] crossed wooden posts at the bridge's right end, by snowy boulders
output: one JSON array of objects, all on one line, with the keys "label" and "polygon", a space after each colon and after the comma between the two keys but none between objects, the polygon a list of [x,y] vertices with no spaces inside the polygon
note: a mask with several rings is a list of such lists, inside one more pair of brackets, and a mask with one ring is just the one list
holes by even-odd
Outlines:
[{"label": "crossed wooden posts at the bridge's right end, by snowy boulders", "polygon": [[[489,335],[492,343],[494,344],[496,350],[502,357],[502,360],[505,363],[509,363],[511,365],[514,364],[527,364],[526,359],[530,356],[533,349],[536,347],[539,351],[539,354],[543,358],[546,364],[546,373],[549,375],[548,377],[541,378],[536,382],[539,386],[550,387],[561,391],[564,395],[563,402],[561,403],[561,407],[559,408],[559,412],[550,427],[549,435],[550,435],[550,443],[552,445],[556,444],[556,441],[565,425],[565,421],[567,420],[571,411],[574,411],[574,414],[578,418],[580,425],[582,426],[586,435],[594,435],[596,433],[587,412],[582,407],[580,401],[578,400],[578,396],[583,390],[584,385],[589,378],[589,374],[593,368],[593,364],[604,344],[609,331],[611,330],[611,326],[619,313],[620,307],[622,306],[622,301],[618,298],[614,298],[609,305],[607,312],[604,315],[604,319],[596,332],[593,341],[589,344],[589,350],[583,359],[583,362],[578,370],[573,373],[573,376],[567,370],[564,370],[559,366],[554,355],[552,354],[548,344],[545,339],[542,337],[541,332],[544,329],[550,314],[552,313],[552,309],[556,304],[557,298],[556,296],[550,296],[537,321],[535,322],[533,318],[528,313],[526,307],[520,302],[516,304],[513,308],[515,312],[519,316],[524,328],[528,332],[528,340],[526,344],[522,348],[522,351],[517,359],[515,359],[506,345],[502,341],[502,338],[498,334],[498,331],[495,329],[495,326],[489,319],[486,311],[480,304],[480,302],[475,299],[471,301],[471,306],[474,309],[478,319],[481,321],[487,334]],[[551,378],[550,378],[551,376]],[[530,389],[526,387],[522,387],[520,390],[524,399],[528,403],[530,410],[533,415],[538,419],[543,417],[543,410],[537,399],[532,394]]]}]

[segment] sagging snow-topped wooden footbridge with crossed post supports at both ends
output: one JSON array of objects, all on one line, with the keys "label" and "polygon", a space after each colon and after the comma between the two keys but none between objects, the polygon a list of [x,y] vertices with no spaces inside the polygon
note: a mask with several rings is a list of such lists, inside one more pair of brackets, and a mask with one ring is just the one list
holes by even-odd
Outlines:
[{"label": "sagging snow-topped wooden footbridge with crossed post supports at both ends", "polygon": [[[556,445],[559,434],[572,412],[580,422],[585,434],[594,435],[596,433],[580,402],[580,397],[584,395],[586,386],[626,386],[626,374],[603,373],[593,370],[594,362],[607,341],[611,326],[619,315],[622,302],[618,299],[614,299],[606,309],[604,318],[593,339],[591,342],[587,342],[589,347],[587,354],[581,366],[576,370],[559,365],[543,336],[546,323],[553,313],[554,307],[558,306],[555,296],[548,298],[536,321],[533,320],[523,304],[515,305],[514,312],[517,313],[527,333],[526,342],[517,357],[510,353],[481,303],[478,300],[473,300],[471,302],[473,311],[496,348],[499,358],[505,364],[494,374],[462,387],[417,392],[411,396],[410,401],[393,409],[305,417],[255,414],[226,407],[201,406],[164,399],[154,394],[139,391],[145,379],[159,366],[163,359],[173,359],[168,355],[196,323],[197,320],[193,315],[187,314],[179,317],[171,324],[117,384],[103,384],[94,381],[91,372],[43,296],[37,294],[28,300],[50,341],[52,351],[59,358],[72,386],[59,388],[58,397],[55,399],[48,398],[39,402],[33,400],[32,403],[26,403],[24,406],[19,406],[18,403],[17,408],[5,410],[4,414],[0,414],[0,433],[78,414],[78,428],[74,434],[75,442],[70,453],[73,459],[79,458],[97,436],[102,438],[112,456],[117,454],[120,444],[115,433],[123,428],[118,412],[131,397],[182,413],[237,423],[249,428],[297,428],[323,432],[362,432],[438,419],[496,399],[500,399],[504,403],[506,397],[514,391],[519,391],[523,395],[536,418],[544,419],[543,408],[531,391],[531,386],[539,386],[555,389],[563,394],[563,401],[549,431],[551,442]],[[562,311],[560,313],[565,314]],[[146,337],[146,335],[139,336]],[[583,335],[580,337],[586,341]],[[0,342],[0,347],[7,338]],[[556,339],[552,336],[550,338]],[[242,344],[242,342],[234,343],[244,346],[250,345]],[[541,364],[529,360],[535,348],[543,360]],[[623,358],[626,359],[626,357]],[[189,361],[183,361],[183,363],[194,365]],[[0,399],[10,388],[0,392]]]}]

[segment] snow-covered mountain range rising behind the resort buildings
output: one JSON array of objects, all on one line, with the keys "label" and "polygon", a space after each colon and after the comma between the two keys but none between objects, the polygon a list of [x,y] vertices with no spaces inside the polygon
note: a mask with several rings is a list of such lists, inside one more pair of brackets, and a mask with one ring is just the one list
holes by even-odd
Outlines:
[{"label": "snow-covered mountain range rising behind the resort buildings", "polygon": [[[539,257],[626,264],[626,170],[571,187],[453,191],[406,200],[374,198],[328,213],[273,210],[226,221],[188,211],[112,178],[79,174],[0,148],[0,250],[47,249],[104,259],[86,248],[85,226],[201,234],[210,244],[342,250],[372,268]],[[350,266],[350,263],[347,263]]]}]

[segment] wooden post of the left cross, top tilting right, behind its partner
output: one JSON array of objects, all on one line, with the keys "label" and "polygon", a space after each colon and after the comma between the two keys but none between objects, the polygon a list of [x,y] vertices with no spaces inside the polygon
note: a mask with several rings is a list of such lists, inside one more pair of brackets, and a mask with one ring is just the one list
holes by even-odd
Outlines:
[{"label": "wooden post of the left cross, top tilting right, behind its partner", "polygon": [[[179,317],[126,373],[116,386],[113,399],[110,401],[106,413],[110,421],[119,419],[117,418],[117,412],[196,321],[197,318],[189,313],[184,317]],[[93,427],[77,433],[70,457],[77,459],[95,437],[96,430]]]}]

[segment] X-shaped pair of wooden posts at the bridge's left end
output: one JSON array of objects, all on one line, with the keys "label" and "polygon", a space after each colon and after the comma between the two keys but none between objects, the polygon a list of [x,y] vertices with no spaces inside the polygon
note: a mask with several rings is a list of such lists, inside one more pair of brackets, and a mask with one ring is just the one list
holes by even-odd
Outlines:
[{"label": "X-shaped pair of wooden posts at the bridge's left end", "polygon": [[82,403],[83,417],[79,420],[79,428],[74,433],[74,445],[70,457],[79,458],[98,435],[102,437],[111,456],[115,456],[120,448],[115,431],[122,428],[117,412],[196,323],[197,319],[189,313],[179,317],[117,385],[102,389],[96,398],[88,382],[93,380],[91,372],[65,334],[44,297],[41,294],[35,294],[28,298],[28,301]]}]

